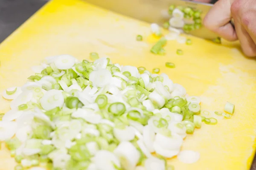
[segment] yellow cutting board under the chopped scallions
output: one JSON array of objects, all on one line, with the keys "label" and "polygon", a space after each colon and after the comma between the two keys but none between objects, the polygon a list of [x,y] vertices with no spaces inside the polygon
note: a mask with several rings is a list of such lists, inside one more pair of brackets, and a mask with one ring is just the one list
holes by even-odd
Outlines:
[{"label": "yellow cutting board under the chopped scallions", "polygon": [[[137,34],[143,35],[143,42],[136,41]],[[169,41],[165,56],[154,55],[149,51],[157,39],[150,36],[148,23],[81,0],[52,0],[0,45],[0,91],[23,85],[33,65],[58,54],[88,59],[94,51],[122,65],[160,68],[189,95],[201,96],[203,109],[223,110],[226,101],[236,105],[232,119],[202,125],[186,137],[182,149],[200,152],[198,162],[183,164],[173,158],[168,163],[175,170],[249,169],[256,146],[256,61],[235,46],[190,38],[192,45]],[[184,55],[176,54],[178,48]],[[166,68],[165,62],[176,68]],[[9,104],[0,98],[0,112],[8,111]],[[2,144],[0,170],[14,166]]]}]

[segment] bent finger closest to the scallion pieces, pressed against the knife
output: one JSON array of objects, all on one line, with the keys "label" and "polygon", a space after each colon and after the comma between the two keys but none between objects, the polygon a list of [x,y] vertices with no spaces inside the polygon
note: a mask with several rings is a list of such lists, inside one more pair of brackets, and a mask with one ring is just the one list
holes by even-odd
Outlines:
[{"label": "bent finger closest to the scallion pieces, pressed against the knife", "polygon": [[204,17],[204,26],[228,40],[237,40],[236,31],[230,23],[231,4],[234,0],[219,0]]}]

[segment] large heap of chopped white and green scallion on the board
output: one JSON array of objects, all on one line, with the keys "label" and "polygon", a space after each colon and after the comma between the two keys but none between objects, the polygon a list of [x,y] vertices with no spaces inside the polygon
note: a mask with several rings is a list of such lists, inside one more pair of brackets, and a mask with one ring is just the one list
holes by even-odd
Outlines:
[{"label": "large heap of chopped white and green scallion on the board", "polygon": [[201,99],[166,74],[91,57],[48,57],[26,84],[3,91],[12,102],[0,141],[15,170],[172,170],[166,158],[200,157],[180,151],[187,134],[234,112],[231,103],[228,113],[201,111]]}]

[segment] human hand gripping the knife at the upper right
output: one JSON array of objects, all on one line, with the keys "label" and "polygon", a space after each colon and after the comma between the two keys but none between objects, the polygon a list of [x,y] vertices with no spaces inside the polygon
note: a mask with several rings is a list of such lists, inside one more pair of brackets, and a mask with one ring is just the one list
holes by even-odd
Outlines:
[{"label": "human hand gripping the knife at the upper right", "polygon": [[226,40],[239,40],[244,54],[256,57],[256,0],[219,0],[204,18],[204,26]]}]

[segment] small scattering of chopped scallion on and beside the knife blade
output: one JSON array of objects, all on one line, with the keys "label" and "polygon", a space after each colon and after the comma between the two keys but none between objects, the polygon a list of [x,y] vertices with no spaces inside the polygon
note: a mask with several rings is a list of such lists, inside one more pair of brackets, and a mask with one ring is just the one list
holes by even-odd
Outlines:
[{"label": "small scattering of chopped scallion on and beside the knife blade", "polygon": [[[202,27],[201,11],[194,10],[190,7],[182,7],[171,5],[169,7],[170,20],[163,23],[163,28],[169,29],[170,33],[162,37],[152,48],[151,53],[164,55],[165,50],[163,48],[166,45],[166,40],[177,40],[177,42],[187,45],[191,45],[190,39],[186,40],[186,37],[180,36],[183,31],[189,33],[195,29]],[[163,36],[160,27],[156,23],[151,24],[151,31],[156,36]],[[141,41],[142,37],[137,40]],[[214,40],[217,42],[218,40]],[[218,41],[219,42],[219,41]],[[183,51],[178,49],[176,52],[178,55],[183,55]]]}]

